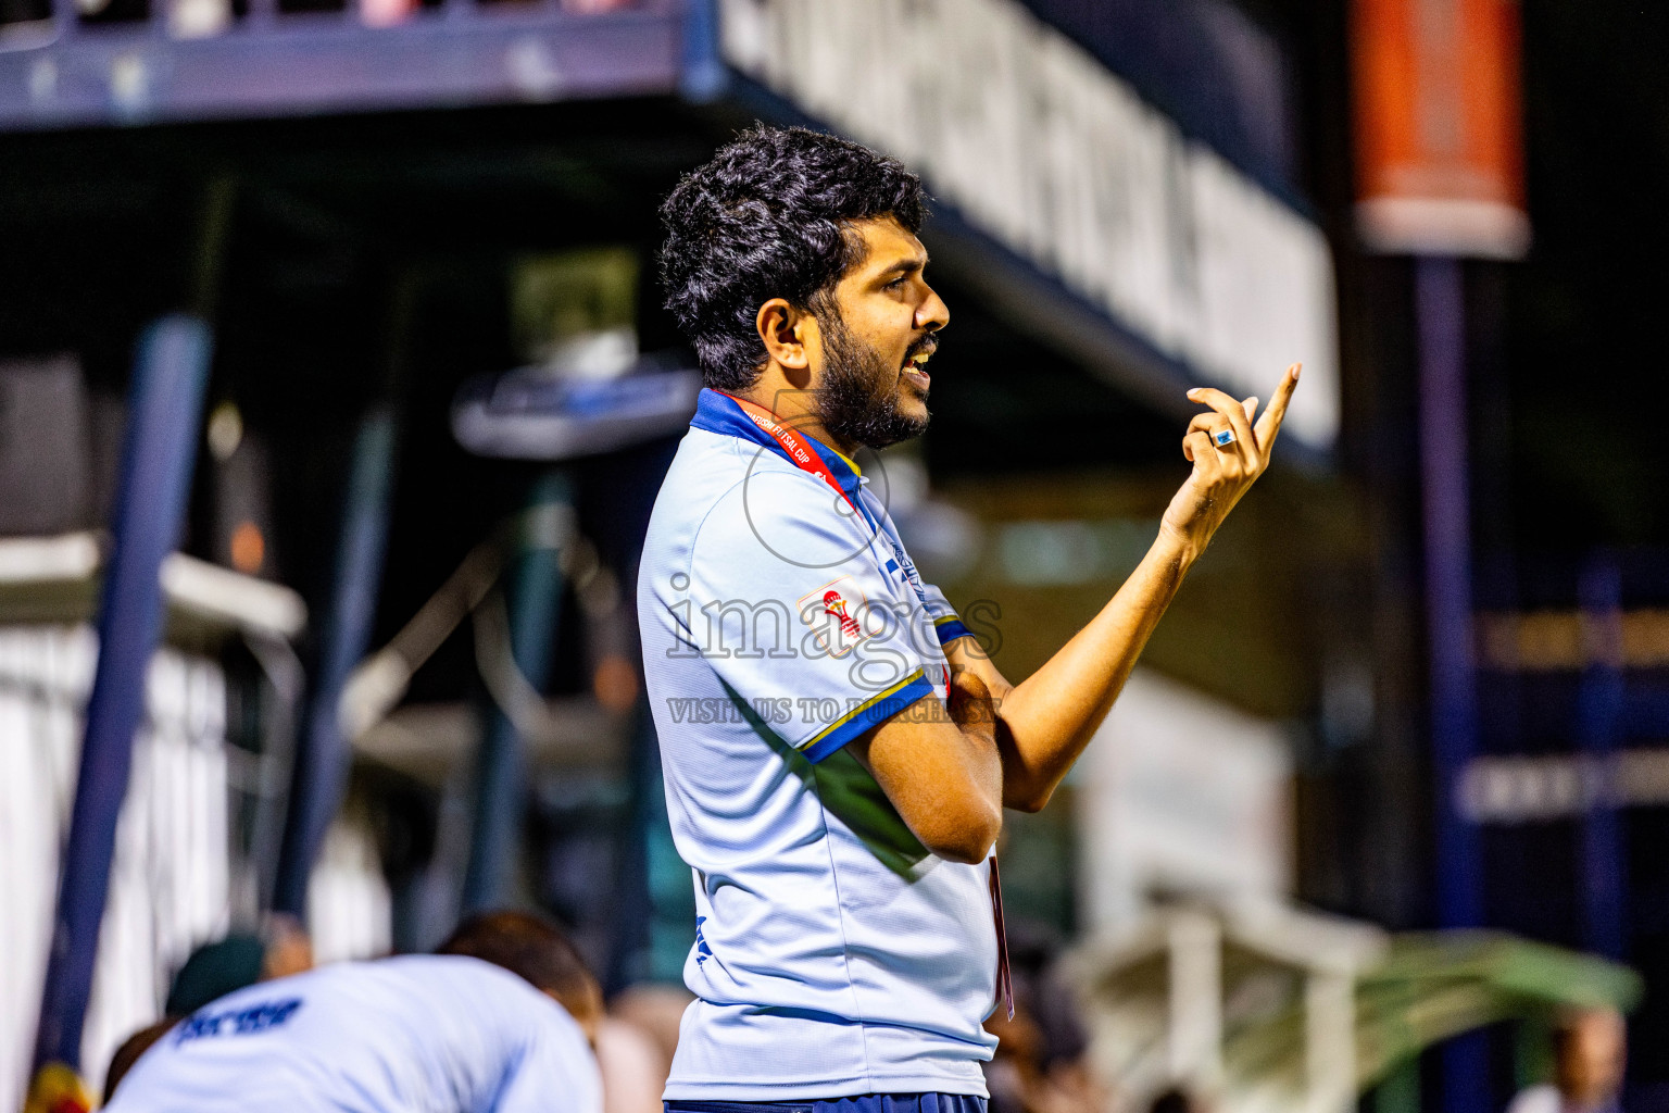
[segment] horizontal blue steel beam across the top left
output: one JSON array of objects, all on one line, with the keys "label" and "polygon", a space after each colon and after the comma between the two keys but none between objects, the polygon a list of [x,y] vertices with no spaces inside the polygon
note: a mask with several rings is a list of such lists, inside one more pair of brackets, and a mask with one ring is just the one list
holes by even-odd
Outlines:
[{"label": "horizontal blue steel beam across the top left", "polygon": [[164,22],[83,30],[57,0],[53,20],[8,27],[0,132],[673,93],[684,72],[679,0],[596,15],[454,0],[396,27],[257,3],[205,38]]}]

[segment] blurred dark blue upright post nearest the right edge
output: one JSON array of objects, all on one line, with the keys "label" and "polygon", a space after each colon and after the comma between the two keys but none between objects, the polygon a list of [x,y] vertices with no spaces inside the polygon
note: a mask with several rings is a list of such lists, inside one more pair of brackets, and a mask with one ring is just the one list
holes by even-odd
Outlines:
[{"label": "blurred dark blue upright post nearest the right edge", "polygon": [[1584,651],[1577,692],[1577,741],[1587,759],[1587,814],[1582,819],[1582,943],[1606,958],[1627,949],[1626,858],[1617,816],[1616,751],[1622,731],[1622,574],[1596,557],[1582,572]]}]

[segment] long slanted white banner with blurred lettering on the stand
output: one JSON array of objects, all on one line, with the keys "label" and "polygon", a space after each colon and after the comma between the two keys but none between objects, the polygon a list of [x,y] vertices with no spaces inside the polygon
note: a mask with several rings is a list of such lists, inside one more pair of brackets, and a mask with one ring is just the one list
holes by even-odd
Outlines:
[{"label": "long slanted white banner with blurred lettering on the stand", "polygon": [[721,0],[726,62],[903,159],[981,230],[1202,377],[1339,429],[1320,230],[1013,0]]}]

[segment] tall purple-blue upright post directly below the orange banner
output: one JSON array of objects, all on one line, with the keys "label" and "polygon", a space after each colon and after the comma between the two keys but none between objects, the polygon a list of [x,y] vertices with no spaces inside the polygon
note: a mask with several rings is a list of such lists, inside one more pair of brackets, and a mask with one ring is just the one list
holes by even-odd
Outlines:
[{"label": "tall purple-blue upright post directly below the orange banner", "polygon": [[[1477,829],[1455,801],[1477,748],[1472,661],[1472,529],[1467,466],[1465,300],[1459,259],[1414,260],[1420,334],[1420,486],[1425,517],[1425,619],[1432,686],[1437,828],[1437,923],[1484,923]],[[1482,1035],[1444,1048],[1444,1111],[1485,1113],[1489,1046]]]}]

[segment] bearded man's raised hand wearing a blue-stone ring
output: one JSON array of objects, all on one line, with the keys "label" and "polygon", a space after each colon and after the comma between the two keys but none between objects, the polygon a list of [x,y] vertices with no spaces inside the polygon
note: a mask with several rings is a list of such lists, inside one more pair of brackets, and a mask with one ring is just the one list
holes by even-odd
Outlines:
[{"label": "bearded man's raised hand wearing a blue-stone ring", "polygon": [[[1188,390],[1190,400],[1210,409],[1188,422],[1182,454],[1193,462],[1193,472],[1165,509],[1160,534],[1173,536],[1193,556],[1205,552],[1228,511],[1268,467],[1287,404],[1298,385],[1298,370],[1300,364],[1287,369],[1255,426],[1255,397],[1240,402],[1210,387]],[[1228,434],[1227,442],[1223,434]]]}]

